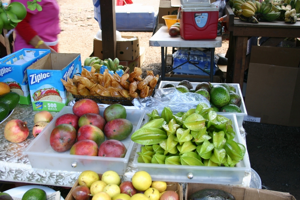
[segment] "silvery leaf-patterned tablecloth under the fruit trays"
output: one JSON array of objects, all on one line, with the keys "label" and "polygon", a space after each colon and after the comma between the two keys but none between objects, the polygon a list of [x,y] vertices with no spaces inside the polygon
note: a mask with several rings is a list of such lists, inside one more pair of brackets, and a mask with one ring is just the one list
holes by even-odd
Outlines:
[{"label": "silvery leaf-patterned tablecloth under the fruit trays", "polygon": [[[23,182],[42,185],[56,185],[72,187],[81,172],[69,172],[61,170],[48,170],[32,168],[27,155],[22,155],[31,141],[34,139],[32,135],[32,127],[34,125],[34,114],[38,111],[32,110],[32,105],[18,104],[11,116],[0,124],[0,180],[11,182]],[[53,117],[58,112],[51,112]],[[21,143],[12,143],[4,138],[4,127],[9,120],[20,119],[27,122],[29,128],[29,136]],[[243,144],[246,146],[244,129],[240,129]],[[130,157],[128,167],[122,176],[122,181],[130,181],[137,168],[133,168],[133,159],[137,150],[137,144]],[[247,158],[249,160],[249,158]],[[88,170],[88,169],[87,169]],[[242,187],[249,187],[251,173],[245,173]]]}]

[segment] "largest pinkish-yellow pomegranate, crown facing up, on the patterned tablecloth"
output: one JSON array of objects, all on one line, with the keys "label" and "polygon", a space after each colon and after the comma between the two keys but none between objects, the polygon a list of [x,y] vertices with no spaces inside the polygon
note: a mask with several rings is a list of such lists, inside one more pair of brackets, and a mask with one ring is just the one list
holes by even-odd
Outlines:
[{"label": "largest pinkish-yellow pomegranate, crown facing up, on the patterned tablecloth", "polygon": [[26,126],[27,122],[19,119],[10,120],[4,128],[4,137],[12,143],[20,143],[29,135],[29,129]]}]

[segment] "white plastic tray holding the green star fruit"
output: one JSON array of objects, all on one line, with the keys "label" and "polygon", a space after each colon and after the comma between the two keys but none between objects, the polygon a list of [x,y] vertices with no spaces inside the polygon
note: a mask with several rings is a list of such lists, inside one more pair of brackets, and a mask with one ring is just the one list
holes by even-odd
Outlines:
[{"label": "white plastic tray holding the green star fruit", "polygon": [[[161,114],[161,112],[159,114]],[[235,114],[222,113],[221,115],[232,120],[232,128],[236,133],[233,140],[242,144],[243,142],[237,126]],[[145,123],[148,121],[149,118],[145,115]],[[139,144],[137,152],[141,152],[141,147],[142,145]],[[237,167],[138,163],[137,153],[133,160],[133,167],[138,168],[138,171],[142,170],[148,172],[151,175],[152,180],[155,181],[174,181],[183,183],[241,184],[245,172],[251,172],[247,149],[244,158],[237,163]]]}]

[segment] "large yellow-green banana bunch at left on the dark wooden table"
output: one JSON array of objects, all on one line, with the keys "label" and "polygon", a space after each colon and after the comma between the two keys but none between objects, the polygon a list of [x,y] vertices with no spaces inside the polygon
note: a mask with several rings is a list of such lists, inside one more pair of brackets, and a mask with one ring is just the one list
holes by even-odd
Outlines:
[{"label": "large yellow-green banana bunch at left on the dark wooden table", "polygon": [[[242,0],[233,1],[236,2]],[[273,21],[279,17],[281,8],[272,5],[272,2],[263,1],[260,3],[255,0],[243,2],[240,6],[242,11],[238,13],[238,17],[243,21],[249,21],[252,23],[258,23],[259,19]],[[238,6],[238,4],[235,5],[236,9],[238,9]]]}]

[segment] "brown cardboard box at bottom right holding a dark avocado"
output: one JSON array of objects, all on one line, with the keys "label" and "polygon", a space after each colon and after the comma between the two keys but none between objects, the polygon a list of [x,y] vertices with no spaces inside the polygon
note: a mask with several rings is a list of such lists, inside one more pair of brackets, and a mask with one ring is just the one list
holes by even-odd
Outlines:
[{"label": "brown cardboard box at bottom right holding a dark avocado", "polygon": [[189,197],[192,193],[202,189],[224,190],[225,192],[231,193],[236,200],[296,200],[293,195],[287,192],[204,183],[188,183],[185,199],[187,199],[187,197]]}]

